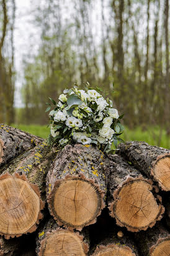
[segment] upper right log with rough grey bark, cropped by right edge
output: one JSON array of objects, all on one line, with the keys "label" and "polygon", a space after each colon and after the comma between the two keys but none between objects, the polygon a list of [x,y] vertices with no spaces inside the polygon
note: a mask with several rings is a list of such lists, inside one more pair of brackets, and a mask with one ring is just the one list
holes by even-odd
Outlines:
[{"label": "upper right log with rough grey bark, cropped by right edge", "polygon": [[146,176],[153,177],[162,190],[170,190],[170,151],[168,149],[150,146],[140,141],[120,143],[119,148],[119,154],[131,161]]}]

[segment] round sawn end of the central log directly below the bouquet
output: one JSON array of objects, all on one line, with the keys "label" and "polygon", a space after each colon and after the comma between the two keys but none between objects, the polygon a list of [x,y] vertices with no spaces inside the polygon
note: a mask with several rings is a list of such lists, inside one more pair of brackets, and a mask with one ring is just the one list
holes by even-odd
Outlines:
[{"label": "round sawn end of the central log directly below the bouquet", "polygon": [[83,176],[56,181],[48,206],[59,225],[81,230],[96,222],[104,208],[104,192]]}]

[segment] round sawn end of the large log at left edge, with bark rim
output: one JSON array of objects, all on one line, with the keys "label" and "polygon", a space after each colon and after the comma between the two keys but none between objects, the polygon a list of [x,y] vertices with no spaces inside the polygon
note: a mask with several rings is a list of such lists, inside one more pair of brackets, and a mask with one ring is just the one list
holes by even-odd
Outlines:
[{"label": "round sawn end of the large log at left edge, with bark rim", "polygon": [[3,174],[0,177],[0,234],[7,239],[34,232],[44,204],[38,187],[25,176]]}]

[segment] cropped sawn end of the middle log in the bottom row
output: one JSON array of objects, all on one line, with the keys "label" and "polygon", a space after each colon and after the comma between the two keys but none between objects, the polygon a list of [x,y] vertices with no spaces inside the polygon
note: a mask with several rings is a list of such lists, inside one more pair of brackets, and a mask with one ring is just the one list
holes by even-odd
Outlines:
[{"label": "cropped sawn end of the middle log in the bottom row", "polygon": [[122,246],[122,245],[101,245],[96,249],[92,256],[135,256],[130,247]]}]

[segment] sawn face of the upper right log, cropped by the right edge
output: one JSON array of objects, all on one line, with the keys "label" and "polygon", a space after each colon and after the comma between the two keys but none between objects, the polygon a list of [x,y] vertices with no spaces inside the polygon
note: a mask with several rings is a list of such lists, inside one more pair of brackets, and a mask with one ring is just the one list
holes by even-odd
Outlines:
[{"label": "sawn face of the upper right log, cropped by the right edge", "polygon": [[170,153],[158,156],[153,163],[151,174],[164,191],[170,191]]}]

